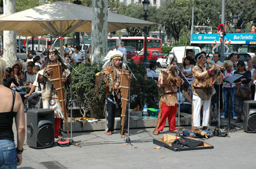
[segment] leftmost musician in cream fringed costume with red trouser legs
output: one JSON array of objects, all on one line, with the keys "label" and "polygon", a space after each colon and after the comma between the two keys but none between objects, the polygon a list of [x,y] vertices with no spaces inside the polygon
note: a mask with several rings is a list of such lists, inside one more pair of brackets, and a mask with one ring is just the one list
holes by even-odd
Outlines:
[{"label": "leftmost musician in cream fringed costume with red trouser legs", "polygon": [[44,88],[41,89],[42,92],[42,107],[43,108],[50,108],[53,109],[55,112],[55,127],[54,127],[54,136],[55,138],[63,138],[61,135],[59,135],[59,126],[61,118],[63,118],[63,112],[61,109],[61,105],[58,99],[57,92],[53,88],[52,82],[50,81],[50,74],[53,73],[52,68],[48,66],[48,64],[51,63],[61,63],[62,67],[62,82],[67,81],[67,77],[70,74],[69,69],[67,66],[62,62],[60,58],[57,57],[56,54],[53,53],[52,50],[48,52],[46,63],[42,66],[42,70],[40,70],[38,73],[38,82],[43,83]]}]

